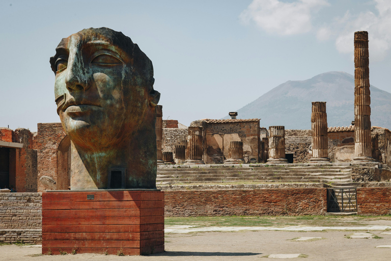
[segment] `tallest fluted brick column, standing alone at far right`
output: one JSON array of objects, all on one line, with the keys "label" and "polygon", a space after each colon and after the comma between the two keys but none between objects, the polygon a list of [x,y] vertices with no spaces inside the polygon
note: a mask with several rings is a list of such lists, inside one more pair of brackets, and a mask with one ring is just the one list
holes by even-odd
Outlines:
[{"label": "tallest fluted brick column, standing alone at far right", "polygon": [[354,33],[354,158],[372,161],[368,32]]}]

